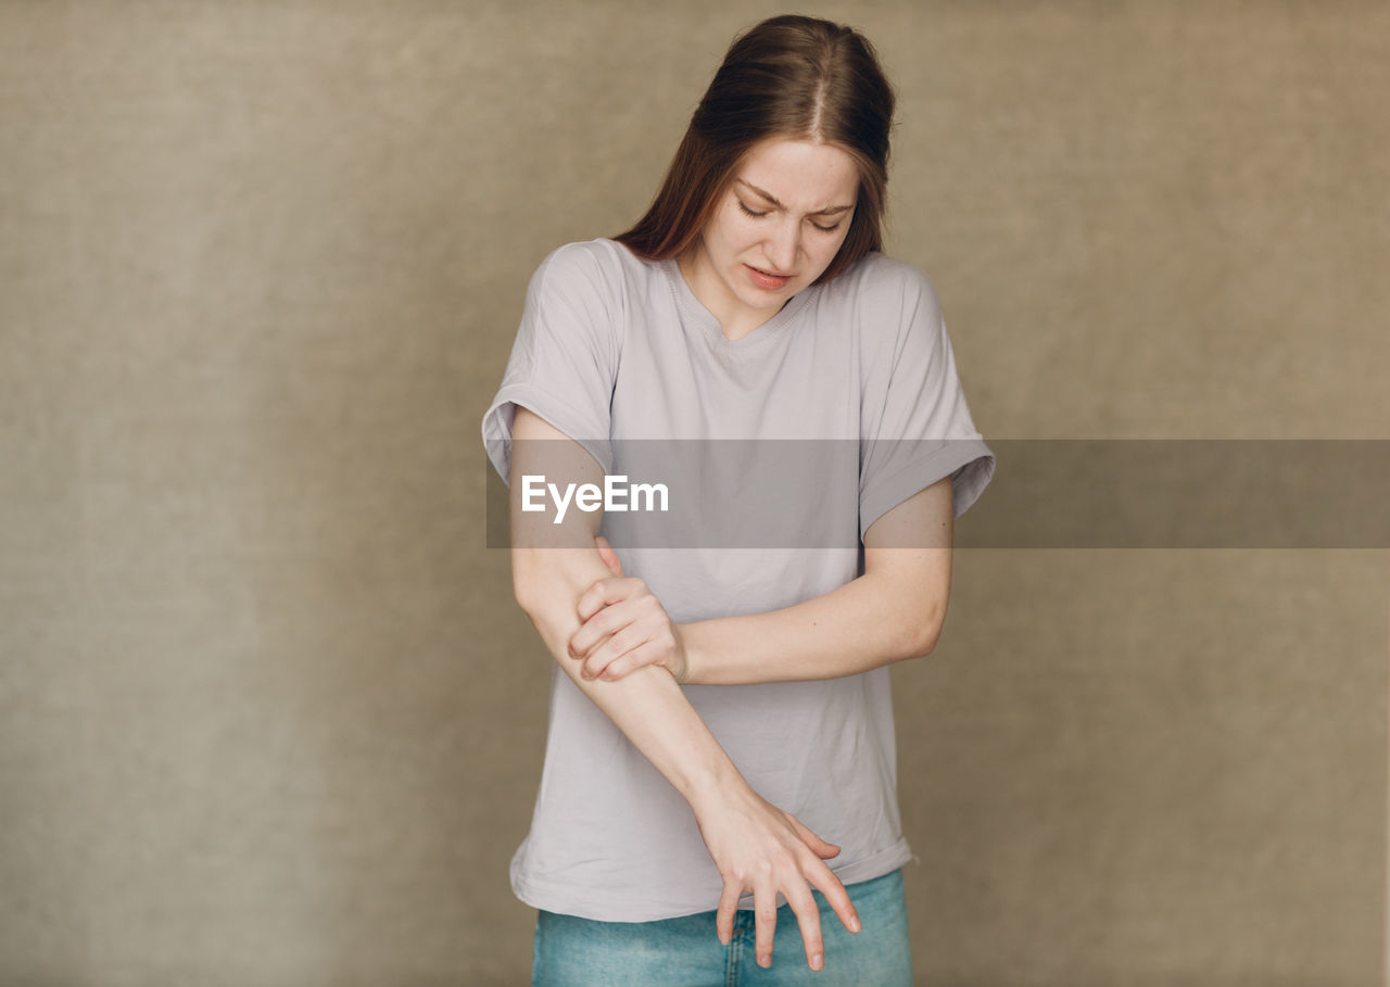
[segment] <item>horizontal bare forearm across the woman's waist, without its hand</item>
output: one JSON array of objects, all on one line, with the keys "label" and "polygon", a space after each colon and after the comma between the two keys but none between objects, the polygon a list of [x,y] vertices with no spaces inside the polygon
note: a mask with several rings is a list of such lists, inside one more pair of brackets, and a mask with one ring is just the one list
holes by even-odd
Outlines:
[{"label": "horizontal bare forearm across the woman's waist, without its hand", "polygon": [[[828,594],[767,613],[681,624],[688,683],[838,678],[926,655],[945,614],[912,603],[887,574],[869,573]],[[929,599],[935,599],[929,598]]]}]

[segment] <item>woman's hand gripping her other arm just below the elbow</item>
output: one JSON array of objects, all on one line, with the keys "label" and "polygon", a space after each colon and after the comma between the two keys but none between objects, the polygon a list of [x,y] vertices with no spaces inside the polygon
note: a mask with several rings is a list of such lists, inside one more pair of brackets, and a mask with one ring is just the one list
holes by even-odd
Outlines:
[{"label": "woman's hand gripping her other arm just below the elbow", "polygon": [[570,638],[570,656],[584,662],[580,674],[613,681],[644,664],[659,664],[684,684],[689,669],[680,627],[642,580],[623,577],[623,563],[602,535],[595,545],[613,578],[599,580],[580,596],[581,624]]}]

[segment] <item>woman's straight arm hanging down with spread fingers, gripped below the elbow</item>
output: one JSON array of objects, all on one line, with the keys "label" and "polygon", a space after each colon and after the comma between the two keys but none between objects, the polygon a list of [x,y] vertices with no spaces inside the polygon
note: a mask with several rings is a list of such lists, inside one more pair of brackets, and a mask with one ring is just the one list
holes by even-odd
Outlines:
[{"label": "woman's straight arm hanging down with spread fingers, gripped below the elbow", "polygon": [[[847,929],[859,931],[849,894],[821,859],[838,848],[753,791],[666,669],[646,666],[617,681],[580,676],[581,662],[569,652],[581,623],[578,599],[595,581],[612,576],[594,542],[602,514],[571,503],[555,524],[550,510],[524,512],[523,477],[545,477],[559,489],[571,482],[602,488],[603,471],[578,442],[525,407],[516,410],[512,437],[512,580],[517,602],[560,669],[689,802],[724,879],[720,941],[733,937],[738,899],[751,890],[758,962],[770,965],[780,891],[796,913],[808,963],[820,969],[820,915],[808,881],[826,895]],[[652,605],[659,606],[655,596]]]}]

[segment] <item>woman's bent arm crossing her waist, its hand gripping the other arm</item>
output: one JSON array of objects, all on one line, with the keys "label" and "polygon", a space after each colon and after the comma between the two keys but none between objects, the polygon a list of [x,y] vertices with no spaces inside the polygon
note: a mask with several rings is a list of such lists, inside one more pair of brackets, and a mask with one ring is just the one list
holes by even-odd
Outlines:
[{"label": "woman's bent arm crossing her waist, its hand gripping the other arm", "polygon": [[571,646],[585,656],[587,674],[621,678],[659,663],[694,685],[838,678],[929,655],[951,595],[952,519],[951,477],[944,477],[869,527],[865,574],[831,592],[781,610],[677,624],[667,656],[623,651],[632,637],[619,644],[603,630],[612,614],[589,624],[605,606],[591,602],[584,614],[581,602],[585,626]]}]

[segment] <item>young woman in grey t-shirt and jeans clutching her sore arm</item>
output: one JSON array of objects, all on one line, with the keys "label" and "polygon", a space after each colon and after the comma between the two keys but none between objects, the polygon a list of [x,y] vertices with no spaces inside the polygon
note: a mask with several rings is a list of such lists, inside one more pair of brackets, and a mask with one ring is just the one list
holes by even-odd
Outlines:
[{"label": "young woman in grey t-shirt and jeans clutching her sore arm", "polygon": [[[892,110],[865,38],[764,21],[646,215],[531,279],[482,434],[556,660],[512,862],[538,984],[912,983],[887,666],[935,645],[994,457],[930,282],[880,252]],[[602,487],[646,439],[705,443],[680,494],[716,525],[763,482],[726,441],[815,439],[813,489],[776,506],[805,539],[620,557],[596,537],[619,514],[524,499],[524,477]]]}]

